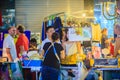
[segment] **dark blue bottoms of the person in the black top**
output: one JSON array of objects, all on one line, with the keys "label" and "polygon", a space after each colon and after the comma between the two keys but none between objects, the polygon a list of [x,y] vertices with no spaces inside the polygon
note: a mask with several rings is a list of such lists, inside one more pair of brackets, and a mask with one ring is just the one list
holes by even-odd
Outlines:
[{"label": "dark blue bottoms of the person in the black top", "polygon": [[43,66],[41,71],[41,80],[59,80],[60,70]]}]

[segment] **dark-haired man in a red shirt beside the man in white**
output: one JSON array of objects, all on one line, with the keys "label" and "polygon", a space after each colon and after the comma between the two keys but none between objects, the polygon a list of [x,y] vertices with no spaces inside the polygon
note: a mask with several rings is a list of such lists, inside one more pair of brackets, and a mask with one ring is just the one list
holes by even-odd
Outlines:
[{"label": "dark-haired man in a red shirt beside the man in white", "polygon": [[20,58],[22,55],[26,54],[29,49],[29,40],[24,34],[24,26],[17,26],[18,39],[16,42],[17,56]]}]

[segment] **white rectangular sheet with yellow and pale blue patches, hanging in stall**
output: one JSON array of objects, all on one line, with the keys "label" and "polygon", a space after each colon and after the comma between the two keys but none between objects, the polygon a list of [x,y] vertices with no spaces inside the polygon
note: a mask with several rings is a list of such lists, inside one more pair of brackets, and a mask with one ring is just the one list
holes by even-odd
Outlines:
[{"label": "white rectangular sheet with yellow and pale blue patches, hanging in stall", "polygon": [[91,39],[91,28],[69,28],[68,39],[69,41],[89,41]]}]

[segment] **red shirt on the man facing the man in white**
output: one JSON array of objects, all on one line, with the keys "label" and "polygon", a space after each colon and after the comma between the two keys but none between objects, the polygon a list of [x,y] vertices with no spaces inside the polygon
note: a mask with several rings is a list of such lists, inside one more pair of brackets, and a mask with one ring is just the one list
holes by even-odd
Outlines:
[{"label": "red shirt on the man facing the man in white", "polygon": [[17,42],[16,42],[16,50],[17,50],[17,57],[20,58],[20,46],[24,46],[24,50],[28,51],[29,48],[29,40],[25,36],[25,34],[19,35]]}]

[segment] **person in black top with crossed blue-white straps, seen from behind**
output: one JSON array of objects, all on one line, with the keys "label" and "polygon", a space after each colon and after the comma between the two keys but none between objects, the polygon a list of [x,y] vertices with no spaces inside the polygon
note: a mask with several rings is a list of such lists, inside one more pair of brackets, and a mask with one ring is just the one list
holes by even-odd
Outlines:
[{"label": "person in black top with crossed blue-white straps, seen from behind", "polygon": [[43,56],[42,80],[59,80],[60,61],[65,58],[62,45],[59,43],[59,34],[53,33],[52,42],[47,42],[43,46],[41,56]]}]

